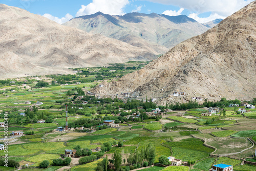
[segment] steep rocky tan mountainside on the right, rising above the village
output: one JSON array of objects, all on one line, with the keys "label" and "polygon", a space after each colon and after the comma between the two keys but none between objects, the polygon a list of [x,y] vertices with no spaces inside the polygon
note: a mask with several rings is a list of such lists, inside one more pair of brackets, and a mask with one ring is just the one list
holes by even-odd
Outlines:
[{"label": "steep rocky tan mountainside on the right, rising above the village", "polygon": [[[94,93],[157,98],[159,104],[191,97],[256,97],[256,1],[207,32],[183,41],[146,67]],[[185,96],[174,97],[174,91]]]}]

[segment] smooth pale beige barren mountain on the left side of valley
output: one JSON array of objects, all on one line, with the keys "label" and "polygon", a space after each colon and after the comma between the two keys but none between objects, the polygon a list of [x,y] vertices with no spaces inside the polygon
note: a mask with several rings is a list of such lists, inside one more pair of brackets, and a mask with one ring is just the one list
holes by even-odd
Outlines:
[{"label": "smooth pale beige barren mountain on the left side of valley", "polygon": [[152,60],[158,54],[100,34],[59,25],[0,4],[0,77],[68,73],[63,69]]}]

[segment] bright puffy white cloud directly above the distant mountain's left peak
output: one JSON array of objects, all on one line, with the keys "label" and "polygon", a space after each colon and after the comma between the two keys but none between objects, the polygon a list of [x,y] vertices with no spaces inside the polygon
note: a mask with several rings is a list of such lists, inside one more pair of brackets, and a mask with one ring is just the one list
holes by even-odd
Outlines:
[{"label": "bright puffy white cloud directly above the distant mountain's left peak", "polygon": [[129,0],[93,0],[87,6],[81,5],[76,16],[90,15],[96,12],[102,12],[110,15],[123,15],[123,8],[129,4]]}]

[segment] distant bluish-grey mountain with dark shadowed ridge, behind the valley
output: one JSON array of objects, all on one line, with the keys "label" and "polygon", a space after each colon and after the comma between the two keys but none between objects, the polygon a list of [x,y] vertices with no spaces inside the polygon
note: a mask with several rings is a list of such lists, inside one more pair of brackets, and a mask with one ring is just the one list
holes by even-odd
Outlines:
[{"label": "distant bluish-grey mountain with dark shadowed ridge, behind the valley", "polygon": [[153,49],[163,54],[181,41],[204,33],[209,28],[186,15],[168,16],[127,13],[123,16],[97,12],[79,16],[63,24],[92,34],[102,34],[128,44]]}]

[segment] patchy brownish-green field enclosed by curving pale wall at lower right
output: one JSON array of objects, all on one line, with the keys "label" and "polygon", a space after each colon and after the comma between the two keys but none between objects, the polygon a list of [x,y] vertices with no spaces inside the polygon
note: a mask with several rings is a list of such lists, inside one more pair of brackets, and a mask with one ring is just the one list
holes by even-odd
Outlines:
[{"label": "patchy brownish-green field enclosed by curving pale wall at lower right", "polygon": [[217,148],[215,154],[236,153],[252,145],[247,139],[235,138],[214,138],[207,142],[207,144]]}]

